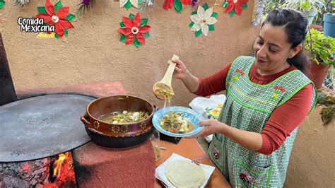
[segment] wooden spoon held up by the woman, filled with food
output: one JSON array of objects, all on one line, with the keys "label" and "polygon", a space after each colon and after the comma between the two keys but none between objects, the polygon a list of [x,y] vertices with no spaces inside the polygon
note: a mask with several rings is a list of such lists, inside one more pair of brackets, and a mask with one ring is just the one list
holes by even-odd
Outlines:
[{"label": "wooden spoon held up by the woman, filled with food", "polygon": [[170,65],[167,68],[165,75],[161,81],[156,82],[153,85],[153,94],[160,100],[168,100],[171,98],[175,93],[173,92],[171,81],[172,81],[172,74],[175,71],[176,63],[173,61],[177,61],[179,57],[173,54],[172,61],[170,60]]}]

